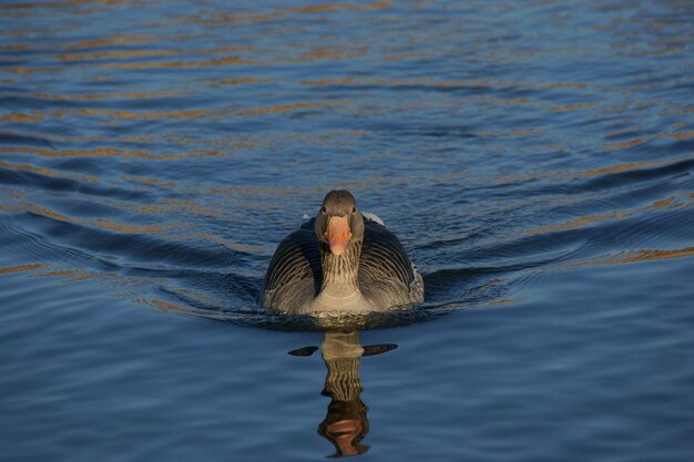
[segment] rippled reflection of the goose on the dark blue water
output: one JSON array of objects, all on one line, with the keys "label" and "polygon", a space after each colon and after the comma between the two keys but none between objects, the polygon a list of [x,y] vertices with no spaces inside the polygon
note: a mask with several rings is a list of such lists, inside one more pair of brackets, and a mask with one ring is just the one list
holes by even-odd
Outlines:
[{"label": "rippled reflection of the goose on the dark blue water", "polygon": [[[327,374],[322,394],[330,398],[328,411],[320,424],[318,434],[335,446],[333,456],[359,455],[369,450],[361,441],[369,431],[368,408],[361,401],[361,358],[380,355],[397,348],[396,345],[374,345],[363,347],[359,332],[327,331],[320,343],[320,352]],[[316,347],[289,351],[294,356],[309,356]]]}]

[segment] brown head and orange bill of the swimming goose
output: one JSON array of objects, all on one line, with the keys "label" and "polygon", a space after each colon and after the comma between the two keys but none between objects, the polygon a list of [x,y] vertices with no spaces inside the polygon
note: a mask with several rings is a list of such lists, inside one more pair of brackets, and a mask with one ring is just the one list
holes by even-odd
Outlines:
[{"label": "brown head and orange bill of the swimming goose", "polygon": [[316,216],[316,236],[336,256],[364,239],[364,217],[348,191],[333,189],[325,196]]}]

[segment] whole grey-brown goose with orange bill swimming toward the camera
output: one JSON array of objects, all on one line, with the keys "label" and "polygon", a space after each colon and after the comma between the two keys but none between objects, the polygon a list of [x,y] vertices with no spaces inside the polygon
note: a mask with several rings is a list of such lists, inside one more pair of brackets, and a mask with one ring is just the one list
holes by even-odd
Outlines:
[{"label": "whole grey-brown goose with orange bill swimming toward the camera", "polygon": [[376,215],[345,189],[290,233],[269,263],[261,302],[287,315],[382,311],[423,301],[421,275]]}]

